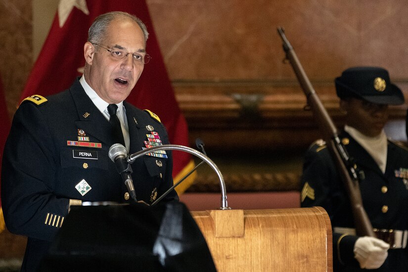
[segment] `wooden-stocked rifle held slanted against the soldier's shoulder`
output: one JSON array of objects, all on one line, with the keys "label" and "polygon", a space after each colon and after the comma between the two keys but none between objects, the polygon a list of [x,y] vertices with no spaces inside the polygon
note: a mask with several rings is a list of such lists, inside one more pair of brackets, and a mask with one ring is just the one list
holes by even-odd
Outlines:
[{"label": "wooden-stocked rifle held slanted against the soldier's shoulder", "polygon": [[313,111],[318,128],[323,135],[323,140],[326,142],[337,170],[339,171],[344,187],[348,193],[351,202],[354,224],[356,226],[356,233],[359,236],[375,237],[371,222],[363,208],[359,178],[356,173],[356,166],[353,163],[353,159],[350,158],[346,148],[341,142],[336,127],[334,126],[330,116],[328,115],[326,109],[319,100],[316,91],[313,89],[312,84],[306,76],[306,73],[300,64],[293,47],[286,39],[283,28],[278,27],[277,32],[283,41],[283,50],[286,53],[285,59],[289,60],[300,86],[305,92],[308,106]]}]

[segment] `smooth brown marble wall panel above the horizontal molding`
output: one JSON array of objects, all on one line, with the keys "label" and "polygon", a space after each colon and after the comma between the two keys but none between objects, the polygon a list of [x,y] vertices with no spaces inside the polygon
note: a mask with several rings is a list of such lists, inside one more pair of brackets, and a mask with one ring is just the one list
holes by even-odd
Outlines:
[{"label": "smooth brown marble wall panel above the horizontal molding", "polygon": [[148,0],[173,80],[293,79],[282,64],[282,26],[311,79],[352,65],[381,65],[407,78],[403,0]]}]

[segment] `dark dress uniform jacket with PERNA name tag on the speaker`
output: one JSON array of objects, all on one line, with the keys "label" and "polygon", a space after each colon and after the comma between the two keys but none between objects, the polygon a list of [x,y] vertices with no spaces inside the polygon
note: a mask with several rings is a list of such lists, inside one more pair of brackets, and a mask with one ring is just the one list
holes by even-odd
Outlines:
[{"label": "dark dress uniform jacket with PERNA name tag on the speaker", "polygon": [[[124,106],[130,154],[146,146],[149,125],[163,144],[169,143],[158,120],[126,101]],[[70,199],[133,201],[125,199],[126,185],[108,157],[115,143],[110,130],[78,79],[44,103],[24,101],[17,109],[4,148],[1,200],[8,230],[28,236],[22,270],[38,265],[68,214]],[[166,152],[168,158],[145,155],[132,164],[138,200],[151,204],[173,185],[171,151]],[[173,191],[162,201],[177,199]]]}]

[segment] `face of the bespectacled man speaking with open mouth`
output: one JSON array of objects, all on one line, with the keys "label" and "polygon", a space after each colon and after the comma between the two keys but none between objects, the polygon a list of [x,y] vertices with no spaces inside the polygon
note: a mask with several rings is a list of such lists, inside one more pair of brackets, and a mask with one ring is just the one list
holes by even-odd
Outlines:
[{"label": "face of the bespectacled man speaking with open mouth", "polygon": [[105,39],[98,45],[87,42],[84,46],[85,59],[89,64],[86,80],[104,101],[117,104],[125,100],[135,87],[144,64],[136,63],[132,54],[117,59],[101,46],[112,51],[121,49],[144,54],[144,35],[136,22],[114,20],[107,29]]}]

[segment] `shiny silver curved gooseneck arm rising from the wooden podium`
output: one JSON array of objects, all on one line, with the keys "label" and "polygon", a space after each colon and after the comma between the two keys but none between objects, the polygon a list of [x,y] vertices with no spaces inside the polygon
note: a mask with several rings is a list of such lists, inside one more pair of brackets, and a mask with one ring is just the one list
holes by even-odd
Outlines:
[{"label": "shiny silver curved gooseneck arm rising from the wooden podium", "polygon": [[[192,155],[195,155],[196,157],[199,157],[200,159],[202,159],[203,161],[205,161],[216,173],[218,178],[220,179],[220,186],[221,186],[221,210],[228,210],[228,204],[227,204],[227,190],[225,187],[225,182],[224,182],[224,177],[223,174],[221,174],[220,170],[218,169],[217,165],[210,159],[208,158],[206,155],[204,155],[203,153],[187,147],[187,146],[183,146],[183,145],[176,145],[176,144],[164,144],[164,145],[160,145],[160,146],[154,146],[154,147],[150,147],[150,148],[146,148],[144,150],[138,151],[134,154],[130,154],[127,157],[127,161],[129,163],[133,163],[135,162],[135,160],[143,155],[146,155],[148,153],[152,153],[155,151],[159,151],[159,150],[180,150],[180,151],[184,151],[187,153],[190,153]],[[198,165],[197,165],[198,167]],[[159,199],[157,199],[159,200]],[[156,203],[157,200],[154,202]],[[154,204],[153,203],[153,204]],[[152,204],[152,205],[153,205]]]}]

